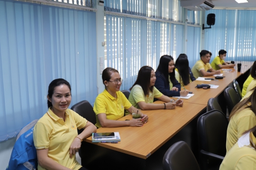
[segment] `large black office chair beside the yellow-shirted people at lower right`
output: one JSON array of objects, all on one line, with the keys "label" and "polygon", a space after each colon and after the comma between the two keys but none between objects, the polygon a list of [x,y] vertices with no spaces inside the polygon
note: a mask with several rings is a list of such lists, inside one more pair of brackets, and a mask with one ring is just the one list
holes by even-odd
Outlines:
[{"label": "large black office chair beside the yellow-shirted people at lower right", "polygon": [[226,155],[227,128],[228,120],[218,110],[198,117],[197,132],[202,169],[219,169]]}]

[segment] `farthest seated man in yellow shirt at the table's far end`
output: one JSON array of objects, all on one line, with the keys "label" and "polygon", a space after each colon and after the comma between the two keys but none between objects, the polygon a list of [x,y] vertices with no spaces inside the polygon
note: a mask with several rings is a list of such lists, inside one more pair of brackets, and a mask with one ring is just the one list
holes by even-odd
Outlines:
[{"label": "farthest seated man in yellow shirt at the table's far end", "polygon": [[212,69],[219,70],[227,67],[234,67],[235,64],[228,64],[224,60],[226,59],[227,52],[224,49],[219,51],[219,56],[215,57],[211,63]]}]

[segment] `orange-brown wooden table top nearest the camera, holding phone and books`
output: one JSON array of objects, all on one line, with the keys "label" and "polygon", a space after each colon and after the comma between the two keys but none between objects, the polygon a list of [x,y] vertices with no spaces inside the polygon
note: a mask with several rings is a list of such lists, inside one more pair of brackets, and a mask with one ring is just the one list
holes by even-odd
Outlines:
[{"label": "orange-brown wooden table top nearest the camera, holding phone and books", "polygon": [[[158,102],[161,103],[162,101]],[[142,127],[125,126],[97,129],[97,132],[119,132],[121,142],[94,144],[146,159],[193,120],[204,108],[204,105],[186,103],[183,107],[176,107],[172,110],[142,111],[149,117],[149,121]],[[131,115],[127,115],[119,121],[131,120],[131,118]],[[86,142],[92,142],[92,137],[87,138]]]}]

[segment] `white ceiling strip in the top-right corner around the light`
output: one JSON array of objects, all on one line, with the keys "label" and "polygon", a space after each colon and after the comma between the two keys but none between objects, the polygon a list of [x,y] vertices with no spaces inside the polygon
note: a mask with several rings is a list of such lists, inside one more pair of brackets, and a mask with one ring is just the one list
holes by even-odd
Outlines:
[{"label": "white ceiling strip in the top-right corner around the light", "polygon": [[247,3],[238,4],[235,0],[211,0],[214,8],[256,8],[256,0],[247,0]]}]

